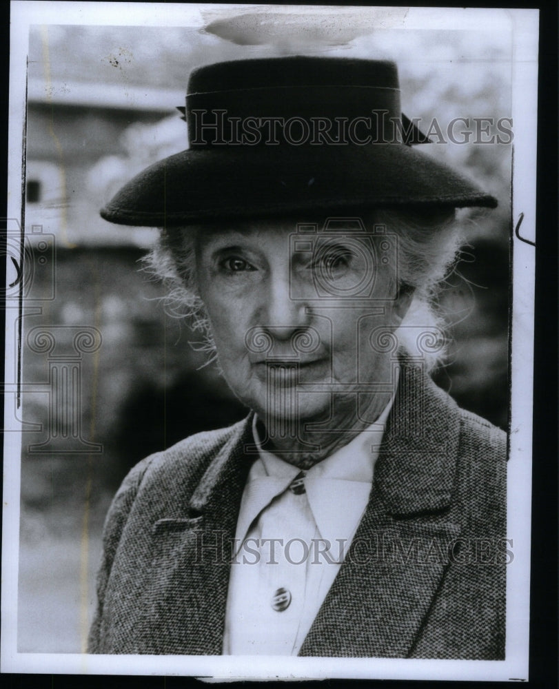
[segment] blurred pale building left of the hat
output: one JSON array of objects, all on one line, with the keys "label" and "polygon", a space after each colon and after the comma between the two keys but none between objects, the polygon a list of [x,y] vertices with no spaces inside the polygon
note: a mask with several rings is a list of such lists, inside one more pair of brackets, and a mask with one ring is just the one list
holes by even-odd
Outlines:
[{"label": "blurred pale building left of the hat", "polygon": [[30,79],[26,123],[26,225],[62,247],[145,245],[150,234],[115,232],[99,208],[159,157],[186,145],[176,113],[184,93]]}]

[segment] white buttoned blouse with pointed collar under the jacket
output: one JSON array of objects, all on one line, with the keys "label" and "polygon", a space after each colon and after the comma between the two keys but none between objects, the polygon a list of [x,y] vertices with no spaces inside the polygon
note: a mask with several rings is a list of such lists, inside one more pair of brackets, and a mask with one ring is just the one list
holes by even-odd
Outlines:
[{"label": "white buttoned blouse with pointed collar under the jacket", "polygon": [[224,655],[298,654],[367,506],[392,401],[303,475],[262,449],[254,420],[259,457],[238,515]]}]

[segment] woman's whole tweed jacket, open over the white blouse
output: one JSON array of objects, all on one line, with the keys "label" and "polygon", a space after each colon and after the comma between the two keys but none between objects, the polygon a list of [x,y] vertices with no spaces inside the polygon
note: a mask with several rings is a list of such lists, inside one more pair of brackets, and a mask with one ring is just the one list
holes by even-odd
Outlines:
[{"label": "woman's whole tweed jacket, open over the white blouse", "polygon": [[[105,522],[90,652],[221,654],[251,443],[249,417],[132,469]],[[359,548],[299,655],[503,659],[505,468],[505,433],[405,366]]]}]

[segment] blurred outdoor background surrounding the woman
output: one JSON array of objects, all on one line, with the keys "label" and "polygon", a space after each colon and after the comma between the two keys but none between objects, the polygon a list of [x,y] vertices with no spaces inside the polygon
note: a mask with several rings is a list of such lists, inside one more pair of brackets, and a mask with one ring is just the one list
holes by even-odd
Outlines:
[{"label": "blurred outdoor background surrounding the woman", "polygon": [[[446,125],[456,117],[510,116],[509,32],[482,22],[475,32],[378,28],[378,12],[215,6],[193,12],[192,25],[182,28],[30,31],[32,271],[17,412],[24,431],[20,652],[83,650],[103,519],[128,469],[246,413],[214,367],[203,366],[188,325],[165,313],[161,286],[140,271],[154,231],[99,217],[136,172],[185,148],[176,107],[184,105],[190,70],[282,54],[394,59],[410,118]],[[465,222],[464,260],[440,300],[451,345],[434,378],[462,407],[506,429],[511,146],[433,143],[423,152],[470,174],[499,200],[495,211],[474,211]],[[46,344],[43,331],[52,336]],[[87,341],[76,340],[78,331]],[[55,377],[66,390],[57,399]]]}]

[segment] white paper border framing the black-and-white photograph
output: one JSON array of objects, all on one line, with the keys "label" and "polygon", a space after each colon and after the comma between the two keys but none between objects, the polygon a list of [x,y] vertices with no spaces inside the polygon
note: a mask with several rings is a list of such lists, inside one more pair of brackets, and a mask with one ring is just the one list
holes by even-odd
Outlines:
[{"label": "white paper border framing the black-and-white photograph", "polygon": [[[26,117],[26,59],[30,25],[185,25],[201,22],[198,5],[166,3],[12,2],[10,41],[9,189],[7,218],[21,218],[22,136]],[[205,6],[215,9],[218,6]],[[246,5],[219,6],[240,10]],[[254,9],[255,6],[250,6]],[[130,9],[133,8],[133,12]],[[294,6],[290,6],[294,9]],[[514,36],[512,112],[514,120],[513,307],[511,320],[511,433],[509,434],[507,533],[514,535],[514,563],[507,570],[507,647],[505,661],[416,659],[307,659],[291,657],[176,657],[32,654],[17,651],[17,581],[21,428],[13,404],[5,399],[2,553],[2,672],[188,675],[252,679],[266,677],[354,679],[528,679],[530,586],[531,447],[533,389],[533,305],[536,242],[536,132],[538,102],[538,11],[410,8],[403,27],[476,28],[479,12],[485,22],[507,25]],[[200,25],[202,25],[200,23]],[[526,241],[527,240],[527,241]],[[7,257],[8,258],[8,257]],[[17,360],[17,309],[6,309],[6,366]],[[8,368],[6,380],[8,376]]]}]

